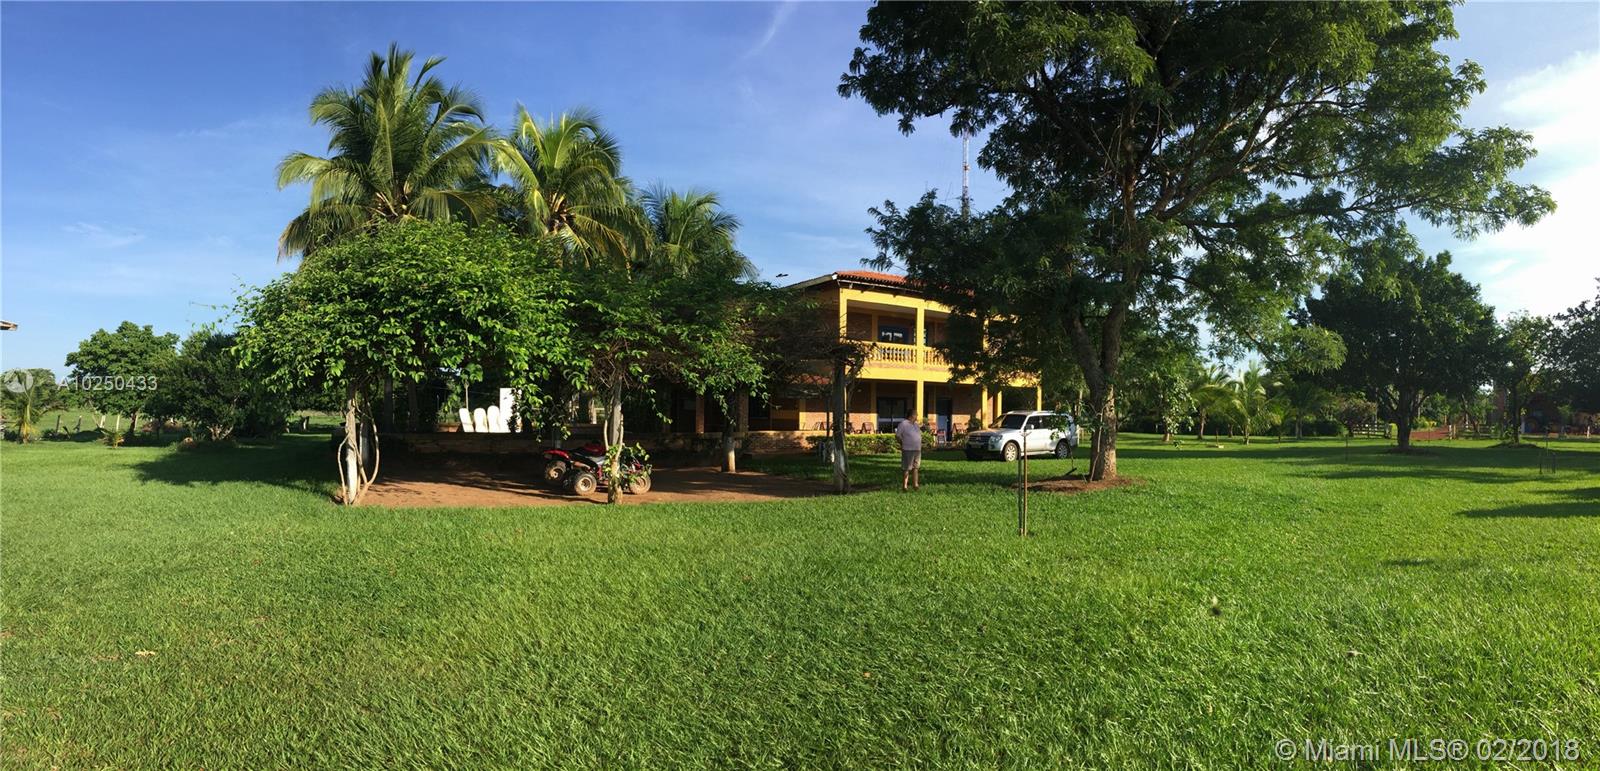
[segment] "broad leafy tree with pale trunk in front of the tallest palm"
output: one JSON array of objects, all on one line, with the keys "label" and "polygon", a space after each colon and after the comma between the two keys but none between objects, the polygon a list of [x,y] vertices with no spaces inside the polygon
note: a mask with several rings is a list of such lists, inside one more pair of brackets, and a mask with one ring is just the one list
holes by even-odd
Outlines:
[{"label": "broad leafy tree with pale trunk in front of the tallest palm", "polygon": [[576,291],[550,246],[498,227],[397,222],[342,240],[238,301],[240,363],[278,393],[338,387],[342,501],[378,475],[373,403],[384,382],[509,373],[526,403],[576,366]]}]

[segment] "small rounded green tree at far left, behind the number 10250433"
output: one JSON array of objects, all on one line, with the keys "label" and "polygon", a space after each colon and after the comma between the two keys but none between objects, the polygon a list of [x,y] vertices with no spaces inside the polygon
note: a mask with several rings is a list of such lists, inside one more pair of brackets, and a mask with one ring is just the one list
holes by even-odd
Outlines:
[{"label": "small rounded green tree at far left, behind the number 10250433", "polygon": [[139,414],[176,357],[178,334],[123,322],[115,331],[96,330],[78,342],[67,354],[67,366],[83,401],[102,416],[128,416],[138,430]]}]

